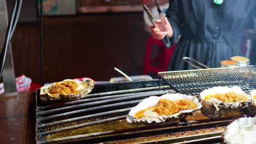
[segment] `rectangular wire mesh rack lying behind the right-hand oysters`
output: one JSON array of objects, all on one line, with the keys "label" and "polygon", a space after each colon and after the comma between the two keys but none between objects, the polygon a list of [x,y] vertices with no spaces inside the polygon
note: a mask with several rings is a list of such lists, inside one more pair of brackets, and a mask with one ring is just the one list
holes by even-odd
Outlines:
[{"label": "rectangular wire mesh rack lying behind the right-hand oysters", "polygon": [[235,68],[213,68],[161,72],[158,75],[174,91],[183,94],[198,95],[204,89],[215,86],[239,86],[248,92],[256,89],[256,67],[249,65]]}]

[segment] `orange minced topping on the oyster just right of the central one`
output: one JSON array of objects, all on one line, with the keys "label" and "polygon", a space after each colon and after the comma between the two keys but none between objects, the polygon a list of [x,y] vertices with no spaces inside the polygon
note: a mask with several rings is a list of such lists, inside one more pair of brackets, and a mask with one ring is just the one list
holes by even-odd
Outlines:
[{"label": "orange minced topping on the oyster just right of the central one", "polygon": [[228,103],[234,103],[236,101],[246,101],[248,98],[246,95],[237,94],[235,92],[228,92],[228,93],[218,93],[218,94],[210,94],[205,97],[205,100],[210,100],[211,98],[216,98]]}]

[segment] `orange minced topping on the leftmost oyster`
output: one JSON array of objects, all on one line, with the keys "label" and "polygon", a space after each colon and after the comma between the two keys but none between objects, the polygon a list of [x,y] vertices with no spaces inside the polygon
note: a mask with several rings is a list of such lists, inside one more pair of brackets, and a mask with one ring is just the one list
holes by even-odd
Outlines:
[{"label": "orange minced topping on the leftmost oyster", "polygon": [[50,94],[69,94],[74,93],[78,88],[78,84],[75,81],[64,81],[64,82],[57,82],[54,86],[49,88]]}]

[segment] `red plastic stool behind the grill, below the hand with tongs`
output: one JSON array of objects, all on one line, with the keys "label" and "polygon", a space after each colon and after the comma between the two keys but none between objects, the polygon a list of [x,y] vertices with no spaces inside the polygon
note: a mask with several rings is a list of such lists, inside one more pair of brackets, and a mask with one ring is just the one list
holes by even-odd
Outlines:
[{"label": "red plastic stool behind the grill, below the hand with tongs", "polygon": [[[151,59],[151,53],[152,53],[152,47],[153,45],[159,46],[162,50],[161,53],[158,54],[158,56],[154,59]],[[168,63],[170,62],[170,59],[172,57],[173,51],[176,47],[176,44],[171,47],[170,49],[167,49],[165,47],[164,43],[162,43],[162,40],[154,39],[151,35],[148,38],[147,48],[146,48],[146,56],[144,60],[144,70],[143,75],[148,74],[149,72],[153,74],[157,74],[160,71],[166,71],[168,68]],[[159,62],[155,66],[152,65],[154,62]]]}]

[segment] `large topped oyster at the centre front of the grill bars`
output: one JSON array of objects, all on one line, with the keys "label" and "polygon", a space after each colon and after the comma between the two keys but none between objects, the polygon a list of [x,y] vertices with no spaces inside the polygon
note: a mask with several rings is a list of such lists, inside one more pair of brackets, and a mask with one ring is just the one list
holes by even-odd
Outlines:
[{"label": "large topped oyster at the centre front of the grill bars", "polygon": [[197,97],[184,94],[165,94],[161,97],[152,96],[144,99],[133,107],[126,120],[132,122],[160,123],[167,120],[182,118],[195,110],[201,104]]}]

